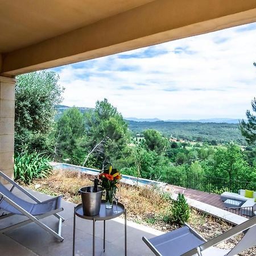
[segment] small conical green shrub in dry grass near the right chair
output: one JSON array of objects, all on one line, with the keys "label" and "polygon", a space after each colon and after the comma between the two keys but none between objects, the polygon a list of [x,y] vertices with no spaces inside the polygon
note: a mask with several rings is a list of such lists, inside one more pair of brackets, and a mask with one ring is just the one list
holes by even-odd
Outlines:
[{"label": "small conical green shrub in dry grass near the right chair", "polygon": [[184,222],[188,221],[190,216],[190,208],[183,194],[179,193],[177,196],[177,201],[174,201],[174,204],[172,205],[171,212],[172,221],[176,224],[183,225]]}]

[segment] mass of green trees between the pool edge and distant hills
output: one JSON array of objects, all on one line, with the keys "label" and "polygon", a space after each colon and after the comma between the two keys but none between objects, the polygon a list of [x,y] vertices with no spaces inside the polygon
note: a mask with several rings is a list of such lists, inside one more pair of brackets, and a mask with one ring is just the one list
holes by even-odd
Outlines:
[{"label": "mass of green trees between the pool edge and distant hills", "polygon": [[[71,109],[66,111],[58,121],[58,127],[63,130],[62,119]],[[88,167],[103,168],[112,163],[123,174],[217,193],[224,189],[237,192],[241,187],[256,189],[256,150],[253,147],[219,144],[216,140],[210,143],[200,142],[200,139],[198,142],[180,141],[155,129],[144,130],[133,137],[122,116],[106,99],[97,102],[96,109],[86,112],[83,117],[84,135],[77,138],[80,143],[84,142],[88,151],[76,147],[80,153],[85,152],[78,161],[80,164],[84,162]],[[69,123],[75,125],[77,118],[71,117]],[[76,139],[76,135],[72,135],[72,139]],[[64,135],[60,141],[65,143],[68,139]],[[71,151],[65,155],[69,162],[74,156]]]}]

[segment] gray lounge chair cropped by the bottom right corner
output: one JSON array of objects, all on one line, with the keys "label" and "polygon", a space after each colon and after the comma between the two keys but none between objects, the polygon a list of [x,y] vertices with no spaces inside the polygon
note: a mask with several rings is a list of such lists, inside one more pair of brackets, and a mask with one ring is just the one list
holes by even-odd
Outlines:
[{"label": "gray lounge chair cropped by the bottom right corner", "polygon": [[[213,247],[237,234],[246,231],[242,239],[231,250]],[[157,256],[233,256],[256,245],[256,216],[226,231],[220,236],[206,241],[187,224],[183,228],[142,240]]]}]

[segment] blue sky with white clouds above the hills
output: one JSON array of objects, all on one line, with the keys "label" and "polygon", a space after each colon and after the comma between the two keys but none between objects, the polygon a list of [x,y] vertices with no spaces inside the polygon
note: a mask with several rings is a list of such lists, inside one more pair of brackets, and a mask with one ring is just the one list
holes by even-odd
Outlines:
[{"label": "blue sky with white clouds above the hills", "polygon": [[107,98],[123,117],[245,118],[256,97],[256,23],[54,68],[63,105]]}]

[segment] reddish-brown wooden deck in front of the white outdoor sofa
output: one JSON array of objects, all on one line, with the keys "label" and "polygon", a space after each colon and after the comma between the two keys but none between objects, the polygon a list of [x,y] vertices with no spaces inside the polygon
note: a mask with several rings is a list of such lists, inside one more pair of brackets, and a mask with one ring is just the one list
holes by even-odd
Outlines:
[{"label": "reddish-brown wooden deck in front of the white outdoor sofa", "polygon": [[185,197],[195,199],[205,204],[209,204],[220,209],[225,208],[224,202],[221,201],[220,195],[198,191],[190,188],[187,189],[182,187],[176,187],[174,185],[170,185],[170,189],[171,191],[174,191],[174,193],[183,193]]}]

